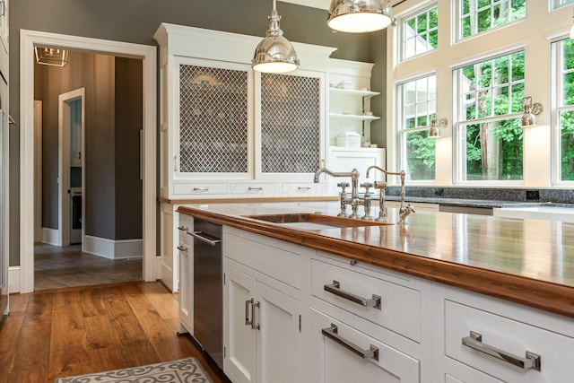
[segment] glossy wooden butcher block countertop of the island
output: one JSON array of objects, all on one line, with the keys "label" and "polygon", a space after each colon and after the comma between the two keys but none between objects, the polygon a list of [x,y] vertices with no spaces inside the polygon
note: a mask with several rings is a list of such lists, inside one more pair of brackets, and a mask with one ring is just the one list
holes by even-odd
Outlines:
[{"label": "glossy wooden butcher block countertop of the island", "polygon": [[[396,209],[387,210],[397,222]],[[335,216],[339,204],[210,203],[178,212],[574,318],[574,223],[419,211],[404,225],[301,230],[248,216]]]}]

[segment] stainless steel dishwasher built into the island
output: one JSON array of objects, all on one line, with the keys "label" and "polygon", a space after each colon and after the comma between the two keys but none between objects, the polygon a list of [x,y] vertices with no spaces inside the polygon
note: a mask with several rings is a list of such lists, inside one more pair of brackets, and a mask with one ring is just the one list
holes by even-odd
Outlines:
[{"label": "stainless steel dishwasher built into the island", "polygon": [[223,368],[222,226],[194,219],[194,338]]}]

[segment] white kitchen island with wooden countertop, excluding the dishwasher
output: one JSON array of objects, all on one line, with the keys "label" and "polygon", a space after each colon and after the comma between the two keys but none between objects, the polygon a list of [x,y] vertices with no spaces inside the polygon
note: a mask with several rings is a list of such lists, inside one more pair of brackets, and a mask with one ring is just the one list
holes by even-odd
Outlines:
[{"label": "white kitchen island with wooden countertop, excluding the dishwasher", "polygon": [[570,379],[574,225],[423,210],[399,225],[392,208],[387,224],[338,212],[319,201],[178,207],[180,222],[223,226],[232,381]]}]

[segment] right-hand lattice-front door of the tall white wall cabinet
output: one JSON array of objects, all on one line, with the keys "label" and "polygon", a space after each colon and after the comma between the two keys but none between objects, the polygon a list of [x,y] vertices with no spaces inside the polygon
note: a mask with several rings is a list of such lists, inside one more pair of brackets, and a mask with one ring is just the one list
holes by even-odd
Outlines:
[{"label": "right-hand lattice-front door of the tall white wall cabinet", "polygon": [[325,74],[297,72],[256,76],[256,178],[310,181],[325,158]]}]

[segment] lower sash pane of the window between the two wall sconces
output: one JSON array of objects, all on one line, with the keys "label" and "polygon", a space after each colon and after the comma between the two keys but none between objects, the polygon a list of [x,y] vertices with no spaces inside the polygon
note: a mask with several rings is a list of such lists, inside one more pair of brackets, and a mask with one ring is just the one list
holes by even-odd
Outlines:
[{"label": "lower sash pane of the window between the two wall sconces", "polygon": [[460,126],[462,180],[509,181],[523,178],[523,129],[518,119]]}]

